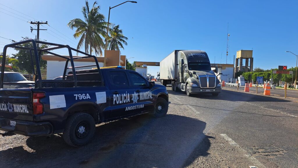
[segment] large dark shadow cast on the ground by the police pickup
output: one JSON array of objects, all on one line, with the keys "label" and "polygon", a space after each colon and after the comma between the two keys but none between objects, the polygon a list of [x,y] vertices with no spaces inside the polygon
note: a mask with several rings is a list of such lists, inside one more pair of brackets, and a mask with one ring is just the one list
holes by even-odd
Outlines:
[{"label": "large dark shadow cast on the ground by the police pickup", "polygon": [[213,137],[204,135],[205,127],[180,115],[139,115],[96,127],[91,143],[80,148],[69,147],[60,135],[29,137],[26,144],[35,152],[24,145],[2,150],[0,156],[12,167],[182,167],[209,154]]}]

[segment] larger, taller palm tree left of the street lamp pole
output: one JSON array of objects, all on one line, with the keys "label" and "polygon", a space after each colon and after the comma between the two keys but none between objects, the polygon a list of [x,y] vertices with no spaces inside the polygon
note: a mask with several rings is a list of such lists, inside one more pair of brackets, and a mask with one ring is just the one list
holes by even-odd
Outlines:
[{"label": "larger, taller palm tree left of the street lamp pole", "polygon": [[[82,7],[82,13],[85,21],[81,19],[72,19],[69,21],[67,26],[72,30],[76,28],[75,38],[80,38],[77,44],[77,50],[79,50],[85,42],[85,52],[92,54],[92,49],[94,49],[95,54],[102,55],[102,48],[105,47],[104,40],[105,32],[107,30],[107,22],[105,22],[105,16],[99,13],[100,6],[96,6],[95,1],[91,10],[89,9],[89,3],[86,0],[86,6]],[[90,52],[89,52],[90,51]]]}]

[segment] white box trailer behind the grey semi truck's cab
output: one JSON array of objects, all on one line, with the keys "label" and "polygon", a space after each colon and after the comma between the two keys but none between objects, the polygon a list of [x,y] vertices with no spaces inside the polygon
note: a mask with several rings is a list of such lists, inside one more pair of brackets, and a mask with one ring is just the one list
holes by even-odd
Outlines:
[{"label": "white box trailer behind the grey semi truck's cab", "polygon": [[178,52],[181,50],[174,50],[166,58],[160,61],[160,79],[163,80],[177,80],[178,73]]}]

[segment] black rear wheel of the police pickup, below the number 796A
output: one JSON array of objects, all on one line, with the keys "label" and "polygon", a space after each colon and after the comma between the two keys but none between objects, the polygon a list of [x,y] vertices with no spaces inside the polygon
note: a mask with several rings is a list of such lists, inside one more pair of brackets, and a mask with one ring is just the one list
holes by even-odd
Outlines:
[{"label": "black rear wheel of the police pickup, below the number 796A", "polygon": [[73,147],[88,144],[94,136],[95,121],[87,113],[79,112],[70,116],[63,131],[64,141]]}]

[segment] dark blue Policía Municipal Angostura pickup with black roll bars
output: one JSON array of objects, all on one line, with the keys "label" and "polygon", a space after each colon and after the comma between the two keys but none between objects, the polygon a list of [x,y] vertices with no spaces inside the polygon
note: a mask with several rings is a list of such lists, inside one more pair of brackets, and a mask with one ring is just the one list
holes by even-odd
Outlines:
[{"label": "dark blue Polic\u00eda Municipal Angostura pickup with black roll bars", "polygon": [[[33,47],[21,47],[24,43],[32,43]],[[36,43],[52,47],[38,49]],[[99,68],[95,56],[68,45],[25,40],[4,46],[3,55],[8,47],[30,51],[35,87],[3,88],[3,85],[13,83],[3,81],[5,67],[1,67],[0,130],[5,131],[3,136],[63,133],[67,144],[79,147],[92,139],[95,124],[143,113],[159,118],[167,113],[166,87],[149,82],[135,71],[121,67]],[[68,49],[69,57],[52,52],[60,48]],[[86,56],[72,56],[71,51]],[[44,53],[65,58],[62,79],[41,78],[39,61]],[[85,58],[94,58],[95,65],[74,66],[75,61]],[[2,63],[5,63],[5,57]]]}]

